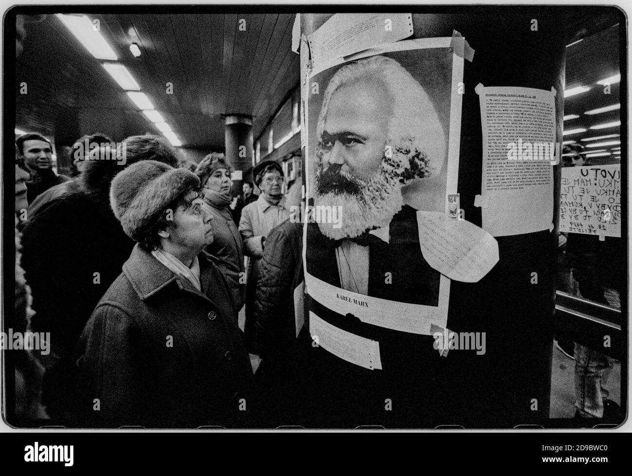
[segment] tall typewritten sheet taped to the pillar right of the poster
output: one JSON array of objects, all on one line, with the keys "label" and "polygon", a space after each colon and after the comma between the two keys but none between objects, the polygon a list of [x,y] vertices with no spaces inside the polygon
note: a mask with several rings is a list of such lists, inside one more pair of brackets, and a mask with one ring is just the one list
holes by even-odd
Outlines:
[{"label": "tall typewritten sheet taped to the pillar right of the poster", "polygon": [[483,130],[482,227],[492,236],[549,229],[559,162],[555,96],[527,87],[475,89]]}]

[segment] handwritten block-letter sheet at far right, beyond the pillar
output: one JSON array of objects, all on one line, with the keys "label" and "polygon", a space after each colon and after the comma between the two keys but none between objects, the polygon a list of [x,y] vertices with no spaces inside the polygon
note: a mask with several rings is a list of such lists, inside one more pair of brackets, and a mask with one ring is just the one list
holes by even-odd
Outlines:
[{"label": "handwritten block-letter sheet at far right, beyond the pillar", "polygon": [[621,237],[621,165],[562,168],[559,230]]}]

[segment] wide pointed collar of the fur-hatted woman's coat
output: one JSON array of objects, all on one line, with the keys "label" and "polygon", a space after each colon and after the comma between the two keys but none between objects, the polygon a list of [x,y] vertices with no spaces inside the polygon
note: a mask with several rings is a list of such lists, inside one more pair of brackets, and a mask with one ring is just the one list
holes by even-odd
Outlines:
[{"label": "wide pointed collar of the fur-hatted woman's coat", "polygon": [[[198,260],[200,260],[200,281],[202,281],[203,275],[206,274],[205,271],[212,266],[210,265],[212,261],[204,252],[198,254]],[[137,292],[138,297],[143,301],[162,291],[174,281],[180,289],[191,291],[205,299],[209,299],[205,294],[195,289],[192,284],[188,282],[183,283],[176,279],[176,275],[173,272],[156,260],[151,253],[138,246],[138,243],[131,251],[130,258],[123,265],[123,274],[130,281],[131,287]],[[202,291],[205,290],[205,284],[205,282],[202,283]]]}]

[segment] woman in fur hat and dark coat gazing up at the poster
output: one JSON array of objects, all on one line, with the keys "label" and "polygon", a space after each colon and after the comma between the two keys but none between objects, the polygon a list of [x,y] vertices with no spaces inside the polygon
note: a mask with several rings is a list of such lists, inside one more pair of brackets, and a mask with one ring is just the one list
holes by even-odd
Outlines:
[{"label": "woman in fur hat and dark coat gazing up at the poster", "polygon": [[112,181],[112,210],[137,244],[77,348],[81,406],[99,402],[99,425],[233,427],[252,414],[240,411],[252,410],[252,367],[228,285],[203,251],[213,218],[199,186],[157,161]]}]

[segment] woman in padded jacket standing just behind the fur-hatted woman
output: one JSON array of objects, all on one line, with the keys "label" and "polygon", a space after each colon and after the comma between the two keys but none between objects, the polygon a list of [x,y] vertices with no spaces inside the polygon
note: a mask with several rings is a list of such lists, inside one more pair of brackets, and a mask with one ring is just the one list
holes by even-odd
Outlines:
[{"label": "woman in padded jacket standing just behind the fur-hatted woman", "polygon": [[217,258],[231,290],[235,312],[243,306],[246,293],[246,276],[243,263],[243,244],[229,205],[233,201],[231,190],[233,166],[224,154],[211,153],[200,161],[195,175],[200,178],[204,202],[213,215],[212,228],[215,239],[207,246],[207,253]]}]

